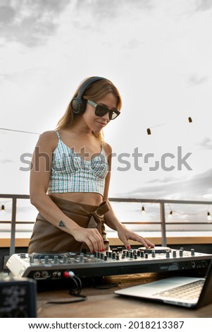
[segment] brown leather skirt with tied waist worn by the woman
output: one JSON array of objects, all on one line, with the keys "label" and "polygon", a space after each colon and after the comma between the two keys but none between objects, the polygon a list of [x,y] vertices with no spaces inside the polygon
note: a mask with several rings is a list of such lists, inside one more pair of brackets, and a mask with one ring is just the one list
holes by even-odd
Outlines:
[{"label": "brown leather skirt with tied waist worn by the woman", "polygon": [[[66,201],[65,199],[54,196],[50,197],[58,208],[74,220],[77,225],[85,228],[97,228],[104,240],[104,249],[109,249],[109,242],[106,238],[104,226],[104,213],[110,209],[106,201],[102,202],[99,206],[90,206]],[[46,251],[82,251],[82,249],[89,251],[85,243],[77,242],[72,235],[63,232],[63,230],[49,223],[40,213],[37,215],[28,247],[29,254]]]}]

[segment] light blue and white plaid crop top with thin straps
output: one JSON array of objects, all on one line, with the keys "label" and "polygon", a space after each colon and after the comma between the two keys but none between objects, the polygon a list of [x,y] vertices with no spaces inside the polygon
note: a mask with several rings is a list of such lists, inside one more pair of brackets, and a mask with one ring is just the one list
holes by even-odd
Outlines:
[{"label": "light blue and white plaid crop top with thin straps", "polygon": [[101,153],[91,160],[84,160],[78,153],[66,146],[58,136],[51,163],[48,193],[92,192],[104,195],[108,160],[101,144]]}]

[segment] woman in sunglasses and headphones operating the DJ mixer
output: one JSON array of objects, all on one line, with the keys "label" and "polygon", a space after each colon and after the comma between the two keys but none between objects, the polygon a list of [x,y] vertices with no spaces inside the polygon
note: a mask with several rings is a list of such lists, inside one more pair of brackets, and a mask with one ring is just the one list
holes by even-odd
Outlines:
[{"label": "woman in sunglasses and headphones operating the DJ mixer", "polygon": [[121,97],[106,78],[87,78],[77,89],[56,131],[40,135],[32,156],[30,201],[39,214],[28,248],[44,251],[109,249],[105,224],[129,239],[154,247],[127,230],[108,202],[111,146],[102,129],[120,114]]}]

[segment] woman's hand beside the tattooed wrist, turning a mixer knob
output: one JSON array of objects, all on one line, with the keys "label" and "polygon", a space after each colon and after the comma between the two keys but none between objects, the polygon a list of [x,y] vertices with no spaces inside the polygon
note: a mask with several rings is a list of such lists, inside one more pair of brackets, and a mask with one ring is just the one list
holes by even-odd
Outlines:
[{"label": "woman's hand beside the tattooed wrist, turning a mixer knob", "polygon": [[96,228],[79,227],[72,234],[76,241],[85,242],[92,253],[95,251],[104,251],[104,241]]}]

